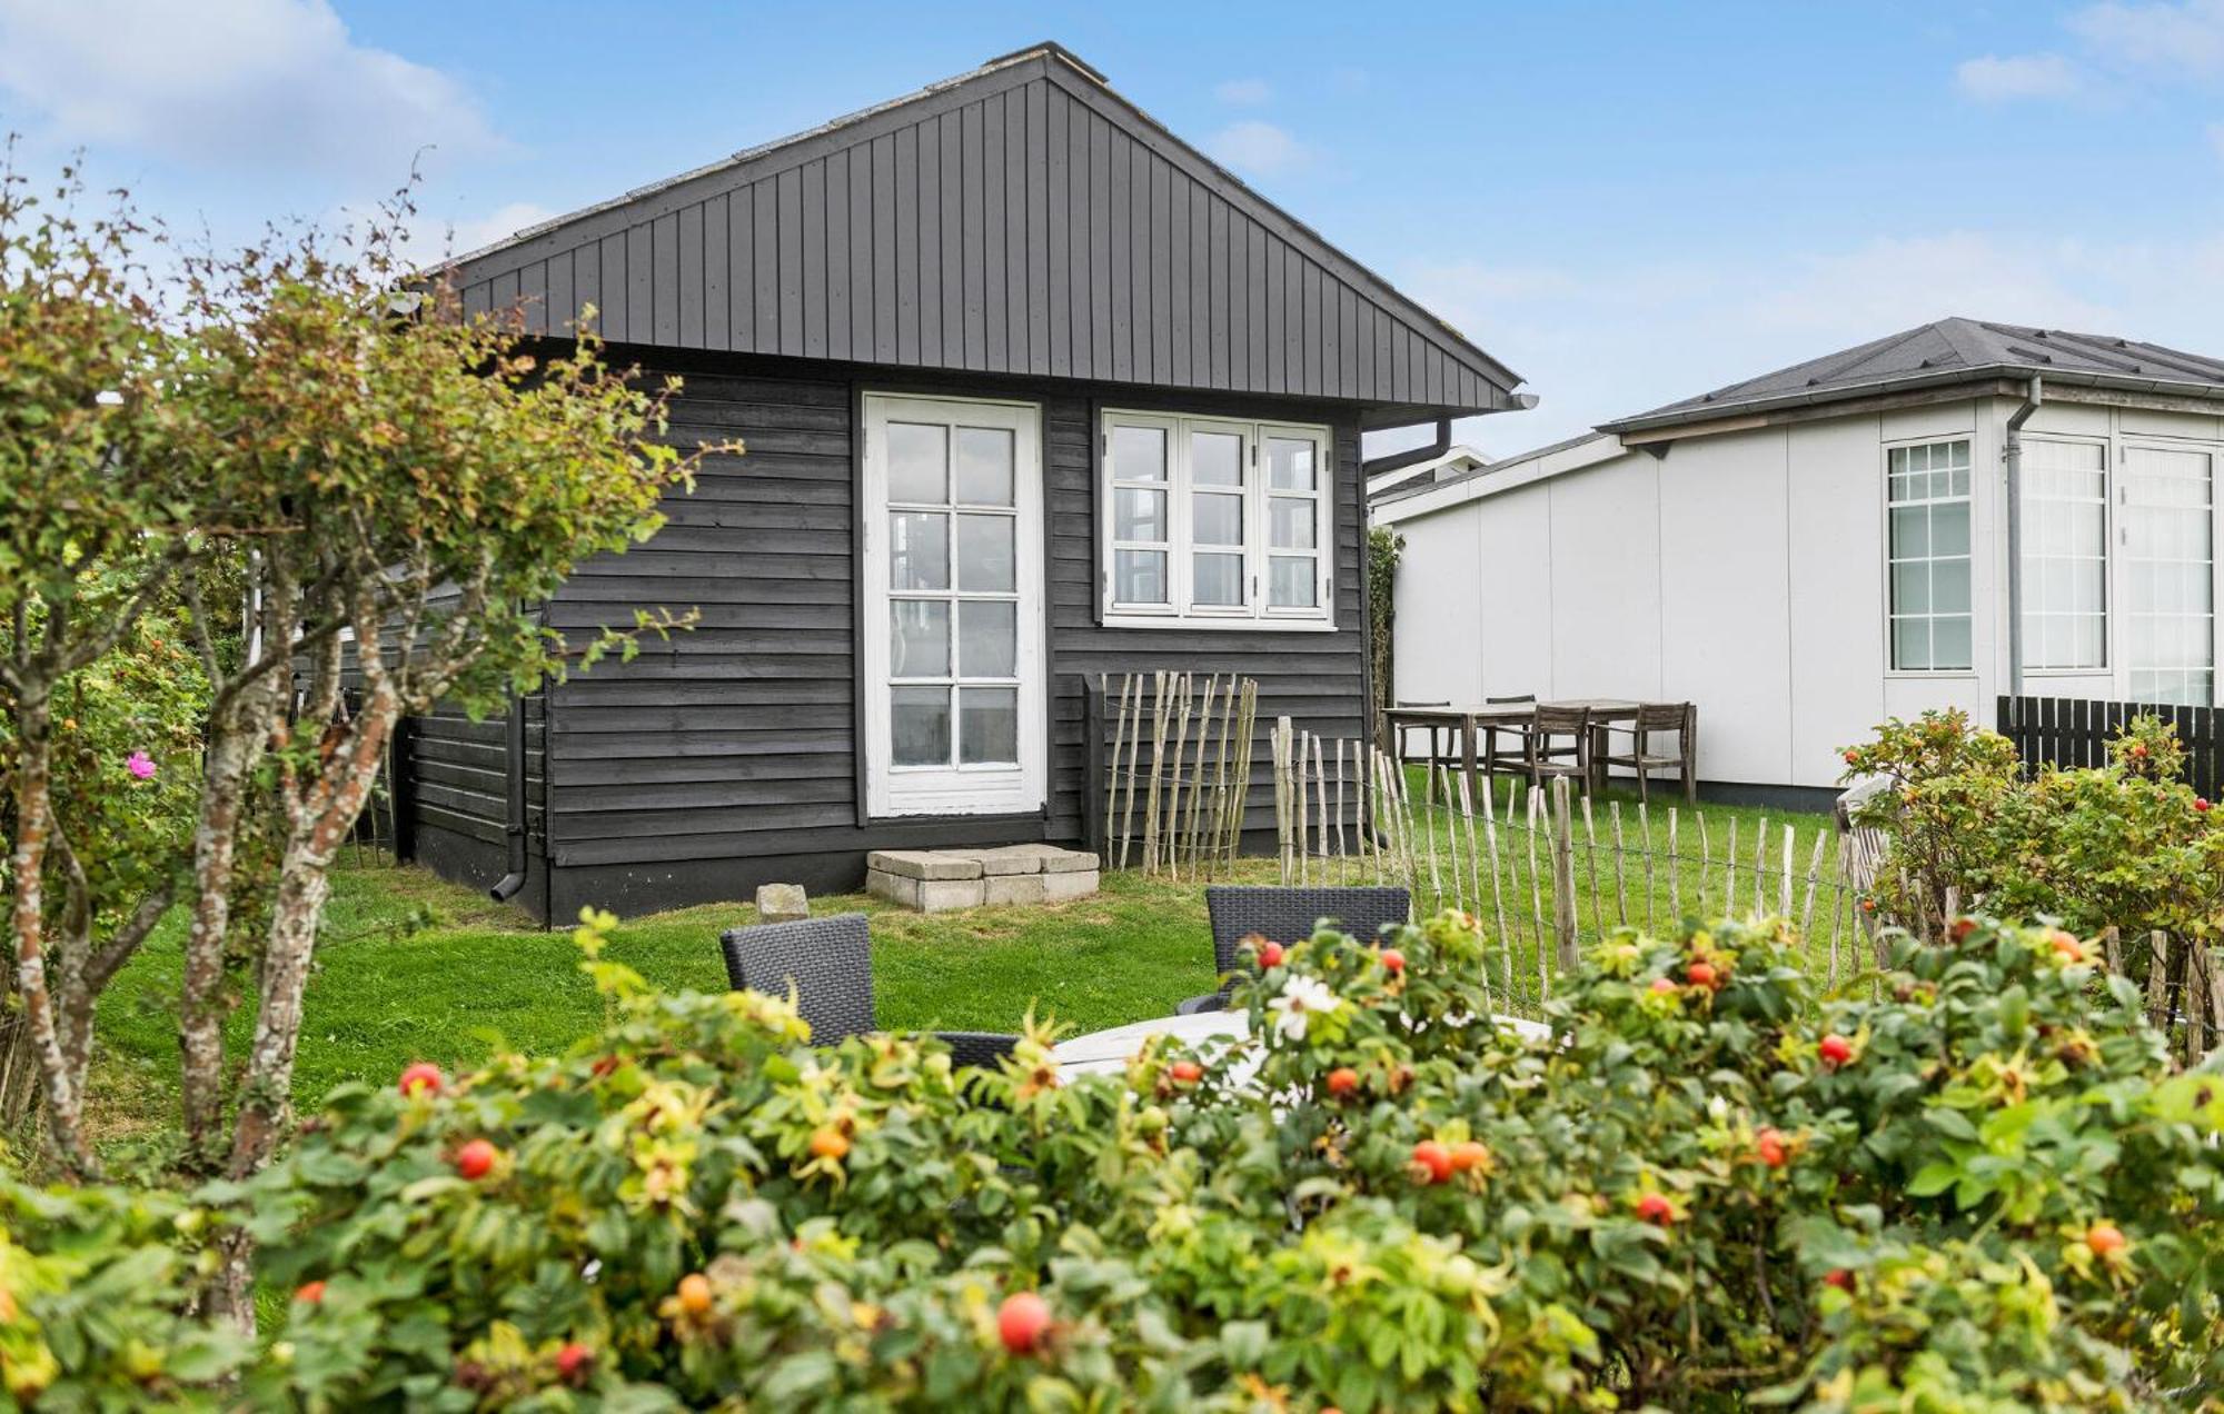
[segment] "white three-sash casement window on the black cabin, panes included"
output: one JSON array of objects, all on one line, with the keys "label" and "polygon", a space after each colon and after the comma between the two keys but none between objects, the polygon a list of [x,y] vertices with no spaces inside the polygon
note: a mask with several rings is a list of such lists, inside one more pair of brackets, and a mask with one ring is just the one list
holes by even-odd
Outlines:
[{"label": "white three-sash casement window on the black cabin, panes included", "polygon": [[1103,620],[1334,627],[1326,427],[1108,411]]}]

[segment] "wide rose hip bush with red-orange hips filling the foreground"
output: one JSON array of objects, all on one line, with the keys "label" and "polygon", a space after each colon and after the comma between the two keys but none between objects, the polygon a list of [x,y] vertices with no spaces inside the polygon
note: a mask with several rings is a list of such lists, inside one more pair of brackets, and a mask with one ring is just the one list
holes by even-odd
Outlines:
[{"label": "wide rose hip bush with red-orange hips filling the foreground", "polygon": [[[594,952],[607,920],[583,940]],[[2224,1074],[2068,934],[1259,947],[1250,1040],[1061,1076],[589,960],[563,1058],[345,1087],[240,1189],[258,1407],[2131,1407],[2224,1392]],[[2095,1000],[2097,998],[2097,1000]]]}]

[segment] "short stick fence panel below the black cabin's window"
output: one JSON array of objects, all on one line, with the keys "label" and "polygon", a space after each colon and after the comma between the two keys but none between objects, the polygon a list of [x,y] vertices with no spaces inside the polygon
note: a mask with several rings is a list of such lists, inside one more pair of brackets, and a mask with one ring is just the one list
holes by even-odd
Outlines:
[{"label": "short stick fence panel below the black cabin's window", "polygon": [[1168,878],[1225,874],[1243,843],[1259,683],[1152,671],[1099,676],[1096,691],[1112,729],[1105,865]]}]

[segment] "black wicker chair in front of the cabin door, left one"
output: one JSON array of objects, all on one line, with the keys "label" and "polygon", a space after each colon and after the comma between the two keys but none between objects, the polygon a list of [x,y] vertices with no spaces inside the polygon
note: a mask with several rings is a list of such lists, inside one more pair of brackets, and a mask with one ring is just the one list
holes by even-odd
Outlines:
[{"label": "black wicker chair in front of the cabin door, left one", "polygon": [[[838,1045],[878,1032],[872,1012],[872,929],[865,914],[834,914],[798,923],[756,923],[718,934],[725,978],[785,996],[796,987],[796,1012],[812,1023],[812,1045]],[[1005,1032],[936,1032],[956,1065],[996,1065],[1019,1036]]]}]

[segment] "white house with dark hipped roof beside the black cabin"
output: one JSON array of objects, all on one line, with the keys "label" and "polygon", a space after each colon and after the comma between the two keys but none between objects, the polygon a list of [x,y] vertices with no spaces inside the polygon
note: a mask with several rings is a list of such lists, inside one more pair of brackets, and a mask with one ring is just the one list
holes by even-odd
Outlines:
[{"label": "white house with dark hipped roof beside the black cabin", "polygon": [[1394,696],[1692,700],[1717,789],[2010,691],[2213,705],[2220,454],[2224,360],[1924,325],[1381,496]]}]

